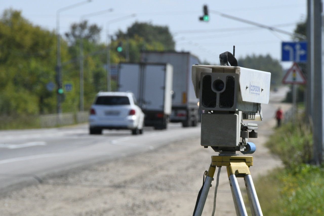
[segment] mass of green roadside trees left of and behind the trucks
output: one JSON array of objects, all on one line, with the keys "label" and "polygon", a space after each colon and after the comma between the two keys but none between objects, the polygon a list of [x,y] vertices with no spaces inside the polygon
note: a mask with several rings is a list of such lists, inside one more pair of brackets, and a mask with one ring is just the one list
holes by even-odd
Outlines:
[{"label": "mass of green roadside trees left of and behind the trucks", "polygon": [[[64,84],[73,86],[72,91],[64,90],[63,112],[75,113],[80,107],[80,47],[85,109],[89,109],[98,91],[107,90],[107,46],[99,42],[100,31],[85,20],[72,24],[60,40],[63,89]],[[115,64],[126,60],[126,52],[131,62],[138,62],[142,50],[174,50],[175,46],[168,27],[149,23],[136,22],[127,33],[119,31],[113,38],[110,62]],[[118,42],[123,44],[121,53],[115,49]],[[20,117],[56,113],[57,86],[53,91],[46,89],[48,83],[56,83],[56,65],[56,33],[33,25],[20,11],[5,10],[0,17],[0,116],[8,116],[15,125]],[[115,81],[111,87],[117,90]]]}]

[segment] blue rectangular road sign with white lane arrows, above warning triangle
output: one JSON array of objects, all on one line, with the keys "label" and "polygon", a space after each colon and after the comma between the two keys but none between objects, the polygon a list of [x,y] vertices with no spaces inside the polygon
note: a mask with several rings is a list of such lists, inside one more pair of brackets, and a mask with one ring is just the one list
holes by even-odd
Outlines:
[{"label": "blue rectangular road sign with white lane arrows, above warning triangle", "polygon": [[288,62],[306,63],[307,62],[307,42],[282,42],[281,60]]}]

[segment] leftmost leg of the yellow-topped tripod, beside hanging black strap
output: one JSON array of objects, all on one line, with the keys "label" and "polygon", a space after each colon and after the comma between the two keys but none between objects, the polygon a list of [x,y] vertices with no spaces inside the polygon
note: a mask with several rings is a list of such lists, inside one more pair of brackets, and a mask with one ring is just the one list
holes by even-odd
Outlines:
[{"label": "leftmost leg of the yellow-topped tripod, beside hanging black strap", "polygon": [[216,167],[214,167],[212,165],[209,167],[205,182],[203,184],[203,190],[202,190],[202,193],[201,193],[199,201],[198,201],[197,209],[194,212],[194,216],[200,216],[203,213],[203,207],[204,207],[206,199],[207,199],[209,188],[211,187],[211,184],[213,181],[215,168]]}]

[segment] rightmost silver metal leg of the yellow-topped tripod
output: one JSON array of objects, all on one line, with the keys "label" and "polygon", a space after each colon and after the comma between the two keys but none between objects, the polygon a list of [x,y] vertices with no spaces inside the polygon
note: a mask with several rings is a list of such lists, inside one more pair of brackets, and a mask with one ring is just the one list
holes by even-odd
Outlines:
[{"label": "rightmost silver metal leg of the yellow-topped tripod", "polygon": [[253,215],[262,216],[262,210],[260,207],[259,199],[255,191],[252,177],[250,174],[244,176],[246,190],[248,192],[249,202],[251,205],[251,212]]}]

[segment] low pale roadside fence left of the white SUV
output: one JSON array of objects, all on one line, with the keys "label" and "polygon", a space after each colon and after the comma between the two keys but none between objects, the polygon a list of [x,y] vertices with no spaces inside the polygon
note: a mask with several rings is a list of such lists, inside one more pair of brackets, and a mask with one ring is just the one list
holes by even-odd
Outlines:
[{"label": "low pale roadside fence left of the white SUV", "polygon": [[41,127],[55,127],[85,123],[88,121],[89,112],[48,114],[40,116]]}]

